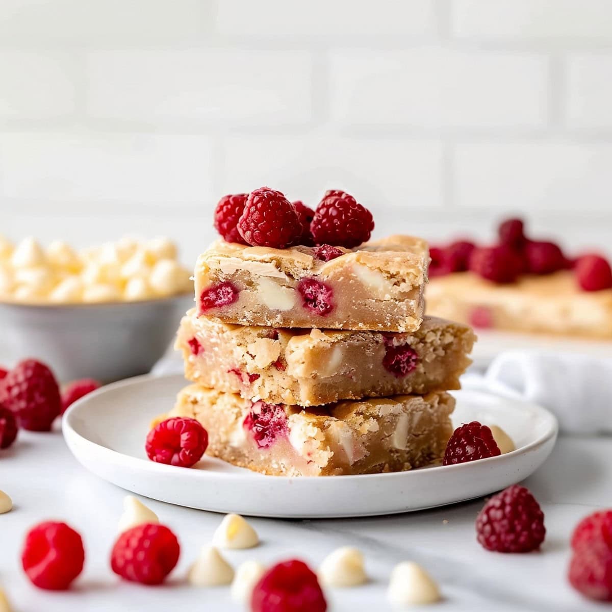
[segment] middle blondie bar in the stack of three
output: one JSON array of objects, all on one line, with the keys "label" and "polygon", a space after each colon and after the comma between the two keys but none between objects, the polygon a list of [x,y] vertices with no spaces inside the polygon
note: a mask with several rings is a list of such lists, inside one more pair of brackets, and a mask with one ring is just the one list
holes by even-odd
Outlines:
[{"label": "middle blondie bar in the stack of three", "polygon": [[190,310],[176,348],[194,383],[247,399],[316,406],[459,388],[475,340],[465,325],[425,317],[415,332],[237,326]]}]

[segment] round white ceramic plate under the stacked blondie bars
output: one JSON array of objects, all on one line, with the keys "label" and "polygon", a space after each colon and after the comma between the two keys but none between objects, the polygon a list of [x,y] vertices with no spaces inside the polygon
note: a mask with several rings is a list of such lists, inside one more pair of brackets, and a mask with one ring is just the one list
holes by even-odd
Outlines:
[{"label": "round white ceramic plate under the stacked blondie bars", "polygon": [[481,391],[455,393],[455,425],[500,425],[517,450],[463,465],[367,476],[262,476],[215,458],[198,468],[149,461],[149,422],[167,412],[182,376],[138,376],[94,392],[64,415],[64,436],[89,471],[152,499],[214,512],[258,517],[359,517],[422,510],[480,497],[518,482],[548,457],[557,423],[539,406]]}]

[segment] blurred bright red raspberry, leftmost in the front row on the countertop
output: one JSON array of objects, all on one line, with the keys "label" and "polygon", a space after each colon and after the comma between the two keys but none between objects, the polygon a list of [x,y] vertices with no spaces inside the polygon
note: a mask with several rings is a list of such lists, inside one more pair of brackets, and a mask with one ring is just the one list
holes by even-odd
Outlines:
[{"label": "blurred bright red raspberry, leftmost in the front row on the countertop", "polygon": [[83,540],[65,523],[40,523],[26,534],[21,564],[39,589],[65,591],[83,571],[84,562]]}]

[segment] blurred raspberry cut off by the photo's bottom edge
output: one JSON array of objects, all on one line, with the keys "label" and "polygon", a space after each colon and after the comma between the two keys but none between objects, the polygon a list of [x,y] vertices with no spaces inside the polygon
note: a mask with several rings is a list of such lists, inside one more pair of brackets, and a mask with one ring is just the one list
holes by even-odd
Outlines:
[{"label": "blurred raspberry cut off by the photo's bottom edge", "polygon": [[252,612],[325,612],[327,602],[316,574],[303,561],[271,567],[251,594]]}]

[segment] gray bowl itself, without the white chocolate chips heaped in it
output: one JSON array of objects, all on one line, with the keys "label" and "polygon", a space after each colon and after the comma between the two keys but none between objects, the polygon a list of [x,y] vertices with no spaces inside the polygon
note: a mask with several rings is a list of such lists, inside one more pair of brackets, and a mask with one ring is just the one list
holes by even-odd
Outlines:
[{"label": "gray bowl itself, without the white chocolate chips heaped in it", "polygon": [[62,383],[144,374],[163,356],[192,305],[193,294],[65,306],[0,302],[0,365],[35,357]]}]

